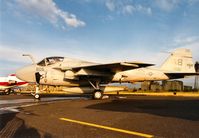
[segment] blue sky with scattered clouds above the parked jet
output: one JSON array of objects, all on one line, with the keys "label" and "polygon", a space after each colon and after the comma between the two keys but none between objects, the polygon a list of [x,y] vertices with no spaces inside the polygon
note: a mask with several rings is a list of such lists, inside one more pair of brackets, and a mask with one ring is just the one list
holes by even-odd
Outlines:
[{"label": "blue sky with scattered clouds above the parked jet", "polygon": [[46,56],[160,64],[199,60],[199,0],[0,0],[0,76]]}]

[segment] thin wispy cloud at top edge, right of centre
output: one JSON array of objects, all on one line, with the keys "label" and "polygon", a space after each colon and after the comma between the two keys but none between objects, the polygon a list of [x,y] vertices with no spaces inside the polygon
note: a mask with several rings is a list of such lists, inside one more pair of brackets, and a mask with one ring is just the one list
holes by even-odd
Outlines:
[{"label": "thin wispy cloud at top edge, right of centre", "polygon": [[141,4],[136,5],[133,4],[132,1],[116,1],[116,0],[107,0],[105,2],[107,9],[111,12],[117,12],[119,14],[133,14],[135,12],[141,12],[145,14],[152,14],[152,10],[150,7],[145,7]]}]

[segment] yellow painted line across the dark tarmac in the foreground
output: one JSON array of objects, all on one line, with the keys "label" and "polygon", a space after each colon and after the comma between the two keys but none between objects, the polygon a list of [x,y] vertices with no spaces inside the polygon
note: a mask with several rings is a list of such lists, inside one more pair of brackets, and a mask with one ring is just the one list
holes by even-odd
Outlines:
[{"label": "yellow painted line across the dark tarmac in the foreground", "polygon": [[130,134],[130,135],[144,137],[144,138],[154,137],[154,135],[144,134],[144,133],[135,132],[135,131],[129,131],[129,130],[125,130],[125,129],[114,128],[114,127],[109,127],[109,126],[103,126],[103,125],[98,125],[98,124],[93,124],[93,123],[88,123],[88,122],[82,122],[82,121],[68,119],[68,118],[59,118],[59,119],[62,121],[72,122],[72,123],[96,127],[96,128],[102,128],[102,129],[106,129],[106,130],[116,131],[116,132],[120,132],[120,133],[126,133],[126,134]]}]

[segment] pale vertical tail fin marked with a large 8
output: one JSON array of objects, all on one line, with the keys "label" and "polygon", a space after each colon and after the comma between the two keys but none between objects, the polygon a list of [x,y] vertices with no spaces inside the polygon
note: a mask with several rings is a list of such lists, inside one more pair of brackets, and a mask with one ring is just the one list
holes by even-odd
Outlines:
[{"label": "pale vertical tail fin marked with a large 8", "polygon": [[190,49],[176,49],[160,68],[164,72],[194,73],[194,64]]}]

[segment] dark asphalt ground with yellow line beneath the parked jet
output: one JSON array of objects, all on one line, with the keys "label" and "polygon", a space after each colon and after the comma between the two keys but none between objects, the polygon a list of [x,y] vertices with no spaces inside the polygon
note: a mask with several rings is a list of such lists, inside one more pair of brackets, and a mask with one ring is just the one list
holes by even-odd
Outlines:
[{"label": "dark asphalt ground with yellow line beneath the parked jet", "polygon": [[0,96],[0,137],[199,137],[199,97]]}]

